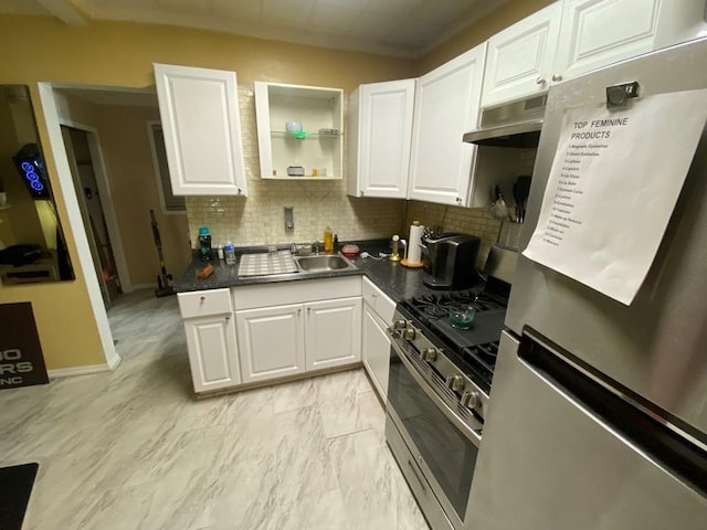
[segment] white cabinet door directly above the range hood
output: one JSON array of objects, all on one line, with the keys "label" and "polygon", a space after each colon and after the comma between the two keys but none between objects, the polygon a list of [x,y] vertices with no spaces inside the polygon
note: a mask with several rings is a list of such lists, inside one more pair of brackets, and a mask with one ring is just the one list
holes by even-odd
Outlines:
[{"label": "white cabinet door directly above the range hood", "polygon": [[488,40],[483,107],[548,88],[560,29],[560,4],[555,2]]}]

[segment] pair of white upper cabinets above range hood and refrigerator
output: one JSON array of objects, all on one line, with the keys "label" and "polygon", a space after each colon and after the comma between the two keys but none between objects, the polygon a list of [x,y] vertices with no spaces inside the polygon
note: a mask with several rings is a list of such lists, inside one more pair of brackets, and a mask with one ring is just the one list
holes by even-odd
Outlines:
[{"label": "pair of white upper cabinets above range hood and refrigerator", "polygon": [[482,106],[541,94],[707,30],[705,0],[562,0],[488,40]]}]

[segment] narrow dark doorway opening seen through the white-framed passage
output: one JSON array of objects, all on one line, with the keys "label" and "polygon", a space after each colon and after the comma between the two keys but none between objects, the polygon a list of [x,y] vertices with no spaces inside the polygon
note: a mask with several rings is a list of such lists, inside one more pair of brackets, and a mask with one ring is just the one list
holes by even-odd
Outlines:
[{"label": "narrow dark doorway opening seen through the white-framed passage", "polygon": [[66,125],[62,125],[61,129],[101,295],[108,309],[123,294],[123,288],[106,223],[105,205],[98,191],[99,165],[92,156],[98,142],[95,132]]}]

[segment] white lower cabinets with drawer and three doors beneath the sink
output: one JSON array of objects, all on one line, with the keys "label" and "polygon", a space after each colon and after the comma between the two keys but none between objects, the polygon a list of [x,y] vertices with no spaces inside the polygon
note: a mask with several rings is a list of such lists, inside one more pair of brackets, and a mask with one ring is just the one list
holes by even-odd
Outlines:
[{"label": "white lower cabinets with drawer and three doors beneath the sink", "polygon": [[180,293],[178,299],[197,393],[361,360],[358,276]]}]

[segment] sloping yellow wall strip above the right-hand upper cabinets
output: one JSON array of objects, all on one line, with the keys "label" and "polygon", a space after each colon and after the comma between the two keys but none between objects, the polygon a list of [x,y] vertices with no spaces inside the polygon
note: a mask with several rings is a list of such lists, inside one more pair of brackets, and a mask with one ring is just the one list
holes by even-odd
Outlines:
[{"label": "sloping yellow wall strip above the right-hand upper cabinets", "polygon": [[420,59],[418,74],[422,75],[481,44],[500,30],[525,19],[556,0],[510,0],[483,17],[456,35],[447,39]]}]

